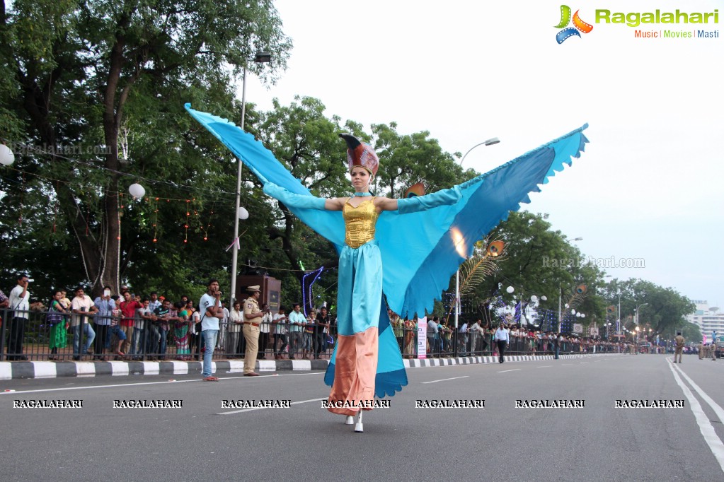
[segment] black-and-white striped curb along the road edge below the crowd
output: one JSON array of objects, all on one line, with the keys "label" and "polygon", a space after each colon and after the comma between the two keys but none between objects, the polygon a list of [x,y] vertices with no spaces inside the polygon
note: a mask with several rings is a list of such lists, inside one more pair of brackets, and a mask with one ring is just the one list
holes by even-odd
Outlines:
[{"label": "black-and-white striped curb along the road edge below the crowd", "polygon": [[[566,360],[598,356],[621,355],[622,353],[578,353],[560,355]],[[505,361],[552,360],[552,355],[513,355]],[[406,358],[406,369],[429,366],[473,365],[497,363],[497,356],[467,356],[458,358]],[[267,371],[312,371],[326,370],[328,360],[258,360],[256,370]],[[242,373],[243,361],[214,361],[211,371],[220,373]],[[201,374],[201,361],[0,361],[0,380],[28,378],[57,378],[60,376],[124,376],[124,375],[185,375]]]}]

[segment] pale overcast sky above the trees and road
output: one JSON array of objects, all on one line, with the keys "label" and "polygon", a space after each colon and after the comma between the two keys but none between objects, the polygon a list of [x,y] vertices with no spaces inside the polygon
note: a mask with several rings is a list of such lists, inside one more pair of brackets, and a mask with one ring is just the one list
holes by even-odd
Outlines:
[{"label": "pale overcast sky above the trees and road", "polygon": [[[255,77],[247,99],[271,109],[319,98],[327,116],[429,131],[448,152],[478,147],[484,172],[584,123],[591,141],[524,209],[605,267],[691,299],[724,303],[722,144],[724,2],[567,2],[590,33],[560,45],[560,1],[274,1],[294,42],[277,85]],[[595,22],[610,12],[713,12],[709,25]],[[571,25],[572,26],[572,25]],[[636,38],[636,30],[719,31],[718,38]],[[544,294],[544,293],[540,293]]]}]

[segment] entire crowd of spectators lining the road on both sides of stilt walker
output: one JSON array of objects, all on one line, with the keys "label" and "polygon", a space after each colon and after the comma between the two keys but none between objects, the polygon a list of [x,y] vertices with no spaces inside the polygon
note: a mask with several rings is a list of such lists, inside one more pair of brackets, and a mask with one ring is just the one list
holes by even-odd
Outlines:
[{"label": "entire crowd of spectators lining the road on both sides of stilt walker", "polygon": [[[11,296],[0,291],[0,309],[9,326],[7,359],[22,361],[30,353],[34,359],[47,356],[51,361],[69,358],[115,360],[199,360],[206,350],[201,337],[203,313],[188,296],[172,300],[152,292],[138,296],[122,287],[112,294],[106,286],[95,299],[78,287],[70,298],[66,291],[57,290],[46,307],[29,303],[27,276],[20,276]],[[243,301],[236,301],[232,309],[223,302],[224,316],[220,319],[219,337],[214,347],[218,356],[244,358]],[[279,307],[272,313],[269,306],[261,306],[264,317],[260,320],[259,352],[257,358],[267,354],[276,360],[321,359],[329,356],[336,338],[336,320],[322,306],[307,314],[300,304],[292,304],[287,313]],[[31,316],[35,314],[35,316]],[[393,333],[405,358],[418,356],[418,319],[403,319],[388,311]],[[455,330],[450,323],[437,316],[429,318],[426,327],[426,356],[499,356],[496,329],[502,325],[507,335],[505,353],[554,354],[557,353],[636,353],[636,345],[599,339],[563,335],[556,332],[533,330],[517,324],[492,324],[481,319],[462,324]],[[28,333],[26,336],[26,329]],[[500,333],[499,333],[500,337]],[[30,350],[23,353],[23,343]],[[72,341],[69,343],[69,339]],[[46,350],[47,347],[47,350]],[[72,348],[72,349],[71,349]]]}]

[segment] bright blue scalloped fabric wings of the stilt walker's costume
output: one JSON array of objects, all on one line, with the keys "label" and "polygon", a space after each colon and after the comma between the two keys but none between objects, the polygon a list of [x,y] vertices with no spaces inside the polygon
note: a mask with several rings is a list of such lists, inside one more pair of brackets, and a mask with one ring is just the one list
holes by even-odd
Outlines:
[{"label": "bright blue scalloped fabric wings of the stilt walker's costume", "polygon": [[[186,104],[186,110],[243,160],[262,183],[272,181],[293,193],[311,196],[309,190],[251,134],[226,119],[195,111],[190,104]],[[588,124],[460,184],[461,199],[455,205],[405,215],[397,211],[382,212],[376,224],[376,238],[381,241],[382,290],[392,311],[403,317],[432,312],[434,301],[439,300],[442,291],[447,289],[450,277],[460,263],[472,254],[475,242],[501,220],[507,219],[510,211],[518,210],[521,202],[530,202],[528,194],[540,191],[539,184],[547,183],[549,177],[563,171],[563,164],[571,165],[571,158],[580,157],[588,142],[583,134],[586,127]],[[342,212],[290,210],[331,241],[337,251],[342,249],[345,243]],[[416,233],[416,236],[406,236],[405,242],[399,244],[384,242],[398,238],[398,233]],[[395,337],[389,320],[384,323],[387,319],[384,306],[382,311],[375,390],[378,396],[392,395],[401,390],[401,385],[407,384],[406,376],[404,380],[399,376],[385,376],[398,374],[403,363],[396,342],[396,353],[389,353],[390,350],[385,348],[392,347]],[[333,374],[333,363],[330,363],[326,378],[330,371]],[[404,369],[402,373],[404,375]]]}]

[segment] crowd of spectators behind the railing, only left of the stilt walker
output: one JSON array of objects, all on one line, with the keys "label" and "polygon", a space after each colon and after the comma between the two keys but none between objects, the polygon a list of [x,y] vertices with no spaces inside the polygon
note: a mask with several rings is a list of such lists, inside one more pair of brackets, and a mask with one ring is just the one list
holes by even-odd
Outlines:
[{"label": "crowd of spectators behind the railing, only left of the stilt walker", "polygon": [[[33,359],[47,356],[51,361],[198,361],[206,350],[201,337],[203,312],[188,296],[180,296],[177,301],[155,291],[138,296],[125,286],[113,294],[106,286],[93,299],[81,286],[71,296],[66,290],[55,291],[47,305],[29,304],[30,282],[22,275],[11,296],[0,291],[0,330],[4,335],[0,337],[0,348],[5,345],[9,361],[25,361],[28,355]],[[228,309],[227,301],[222,301],[222,306],[214,353],[244,358],[243,300],[235,301],[232,309]],[[292,306],[288,317],[283,307],[273,314],[267,304],[261,306],[264,316],[259,322],[257,358],[329,356],[336,320],[330,317],[327,307],[304,314],[299,304]],[[4,319],[6,326],[1,325]]]}]

